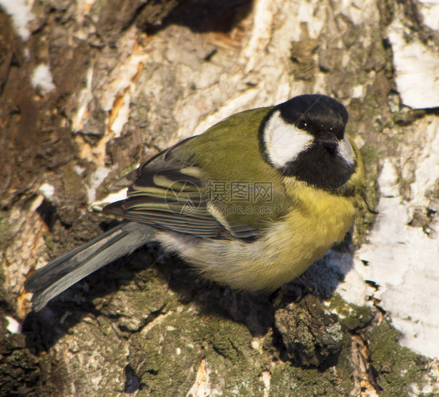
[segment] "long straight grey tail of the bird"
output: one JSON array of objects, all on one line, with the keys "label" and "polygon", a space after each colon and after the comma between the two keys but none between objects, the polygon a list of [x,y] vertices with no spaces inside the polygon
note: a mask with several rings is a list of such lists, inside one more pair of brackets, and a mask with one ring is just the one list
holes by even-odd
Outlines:
[{"label": "long straight grey tail of the bird", "polygon": [[154,240],[154,234],[147,225],[126,222],[38,269],[25,282],[26,290],[34,293],[32,309],[41,310],[53,297],[93,271]]}]

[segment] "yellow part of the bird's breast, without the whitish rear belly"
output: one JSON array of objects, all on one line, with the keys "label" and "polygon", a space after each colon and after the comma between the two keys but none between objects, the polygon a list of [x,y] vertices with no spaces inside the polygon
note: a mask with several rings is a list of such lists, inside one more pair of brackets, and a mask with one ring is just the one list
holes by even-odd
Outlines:
[{"label": "yellow part of the bird's breast, without the whitish rear belly", "polygon": [[[236,278],[238,288],[275,289],[299,277],[331,246],[342,241],[352,226],[358,197],[337,196],[305,184],[295,184],[296,202],[282,222],[273,225],[260,239],[252,261],[242,261],[245,277]],[[300,197],[300,198],[299,198]],[[243,274],[242,271],[239,274]]]}]

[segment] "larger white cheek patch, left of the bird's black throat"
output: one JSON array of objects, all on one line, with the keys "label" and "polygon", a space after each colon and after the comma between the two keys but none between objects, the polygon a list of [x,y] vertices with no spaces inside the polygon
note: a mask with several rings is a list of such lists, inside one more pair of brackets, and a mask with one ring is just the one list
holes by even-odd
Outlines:
[{"label": "larger white cheek patch, left of the bird's black throat", "polygon": [[277,167],[283,167],[289,161],[296,160],[313,141],[313,137],[306,131],[287,124],[279,110],[267,121],[263,139],[267,156]]}]

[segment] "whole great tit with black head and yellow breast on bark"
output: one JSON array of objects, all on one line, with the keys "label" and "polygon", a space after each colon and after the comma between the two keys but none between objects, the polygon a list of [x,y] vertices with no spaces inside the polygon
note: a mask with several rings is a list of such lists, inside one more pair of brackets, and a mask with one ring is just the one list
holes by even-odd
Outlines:
[{"label": "whole great tit with black head and yellow breast on bark", "polygon": [[148,241],[244,291],[297,278],[344,239],[365,204],[347,121],[335,99],[299,95],[157,154],[115,184],[127,198],[103,212],[124,222],[28,278],[33,309]]}]

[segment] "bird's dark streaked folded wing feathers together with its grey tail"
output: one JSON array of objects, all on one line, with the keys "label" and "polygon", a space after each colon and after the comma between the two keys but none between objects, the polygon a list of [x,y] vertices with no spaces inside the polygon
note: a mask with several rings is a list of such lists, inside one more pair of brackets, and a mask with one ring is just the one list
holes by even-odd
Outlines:
[{"label": "bird's dark streaked folded wing feathers together with its grey tail", "polygon": [[183,142],[159,153],[113,185],[128,187],[128,198],[103,211],[129,222],[48,263],[29,277],[25,287],[34,293],[34,310],[40,310],[91,272],[154,240],[156,229],[204,238],[248,239],[258,235],[257,230],[245,225],[226,225],[221,216],[208,212],[204,182],[193,173],[185,173],[187,167],[193,171],[196,164],[182,162],[174,153]]}]

